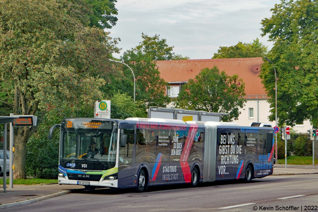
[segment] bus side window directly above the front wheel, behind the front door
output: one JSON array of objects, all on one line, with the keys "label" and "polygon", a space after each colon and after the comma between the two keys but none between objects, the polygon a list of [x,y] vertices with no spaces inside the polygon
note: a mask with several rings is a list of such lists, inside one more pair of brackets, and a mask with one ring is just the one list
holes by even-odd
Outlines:
[{"label": "bus side window directly above the front wheel, behind the front door", "polygon": [[156,130],[137,129],[135,163],[156,161]]}]

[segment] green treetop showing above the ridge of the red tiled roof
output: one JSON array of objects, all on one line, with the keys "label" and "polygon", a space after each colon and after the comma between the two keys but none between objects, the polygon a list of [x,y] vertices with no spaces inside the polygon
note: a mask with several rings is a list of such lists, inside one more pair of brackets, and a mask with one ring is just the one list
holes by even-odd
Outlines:
[{"label": "green treetop showing above the ridge of the red tiled roof", "polygon": [[255,58],[264,57],[267,53],[267,46],[259,42],[256,38],[252,43],[239,42],[234,46],[220,46],[218,53],[215,53],[214,58]]}]

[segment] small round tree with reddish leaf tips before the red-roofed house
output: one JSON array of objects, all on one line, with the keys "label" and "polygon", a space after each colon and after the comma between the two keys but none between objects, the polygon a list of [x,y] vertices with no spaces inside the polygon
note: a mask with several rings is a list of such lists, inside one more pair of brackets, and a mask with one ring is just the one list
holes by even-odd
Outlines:
[{"label": "small round tree with reddish leaf tips before the red-roofed house", "polygon": [[182,86],[177,97],[176,107],[190,110],[204,110],[216,113],[229,113],[222,121],[237,120],[239,108],[245,106],[242,97],[245,84],[238,75],[228,76],[219,72],[218,67],[203,69],[195,79]]}]

